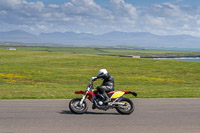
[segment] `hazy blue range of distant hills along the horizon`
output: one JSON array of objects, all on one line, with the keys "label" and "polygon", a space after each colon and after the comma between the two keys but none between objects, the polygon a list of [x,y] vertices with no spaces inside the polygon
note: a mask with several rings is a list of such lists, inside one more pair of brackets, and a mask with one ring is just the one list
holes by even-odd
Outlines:
[{"label": "hazy blue range of distant hills along the horizon", "polygon": [[64,45],[130,45],[139,47],[200,48],[200,38],[190,35],[160,36],[148,32],[109,32],[101,35],[53,32],[39,36],[24,31],[0,32],[0,42],[50,43]]}]

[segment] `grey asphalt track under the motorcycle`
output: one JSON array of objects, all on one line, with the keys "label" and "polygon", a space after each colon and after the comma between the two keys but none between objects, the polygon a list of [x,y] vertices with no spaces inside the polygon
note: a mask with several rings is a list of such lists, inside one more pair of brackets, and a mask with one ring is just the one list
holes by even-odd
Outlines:
[{"label": "grey asphalt track under the motorcycle", "polygon": [[91,104],[75,115],[69,100],[0,100],[0,133],[200,133],[199,98],[132,100],[131,115]]}]

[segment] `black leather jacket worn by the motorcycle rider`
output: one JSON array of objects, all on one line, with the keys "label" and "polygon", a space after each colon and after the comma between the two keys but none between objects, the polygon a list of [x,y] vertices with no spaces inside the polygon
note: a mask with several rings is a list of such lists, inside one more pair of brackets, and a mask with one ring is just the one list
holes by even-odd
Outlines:
[{"label": "black leather jacket worn by the motorcycle rider", "polygon": [[109,73],[107,74],[101,74],[98,75],[97,78],[102,78],[104,79],[103,83],[101,84],[101,86],[109,86],[112,89],[114,89],[114,78],[112,75],[110,75]]}]

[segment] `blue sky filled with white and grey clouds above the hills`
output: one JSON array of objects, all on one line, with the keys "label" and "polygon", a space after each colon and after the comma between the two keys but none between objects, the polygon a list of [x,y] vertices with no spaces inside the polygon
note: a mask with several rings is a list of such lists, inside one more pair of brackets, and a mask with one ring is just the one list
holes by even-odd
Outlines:
[{"label": "blue sky filled with white and grey clouds above the hills", "polygon": [[200,37],[199,0],[0,0],[0,32],[103,34],[112,31]]}]

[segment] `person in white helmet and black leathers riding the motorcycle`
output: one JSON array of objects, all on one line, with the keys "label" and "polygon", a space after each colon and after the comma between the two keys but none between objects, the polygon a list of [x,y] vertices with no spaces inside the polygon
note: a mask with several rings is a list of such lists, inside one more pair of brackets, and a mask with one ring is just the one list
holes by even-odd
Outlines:
[{"label": "person in white helmet and black leathers riding the motorcycle", "polygon": [[98,72],[98,76],[94,77],[94,79],[103,79],[103,83],[101,86],[97,87],[97,91],[102,94],[105,98],[104,103],[108,103],[110,101],[107,92],[114,91],[114,78],[112,75],[108,73],[106,69],[101,69]]}]

